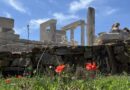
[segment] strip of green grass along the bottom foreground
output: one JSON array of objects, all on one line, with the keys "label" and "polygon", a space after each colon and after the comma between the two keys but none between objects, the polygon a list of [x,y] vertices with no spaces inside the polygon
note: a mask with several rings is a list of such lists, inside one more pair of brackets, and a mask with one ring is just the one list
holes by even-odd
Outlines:
[{"label": "strip of green grass along the bottom foreground", "polygon": [[92,78],[74,79],[67,77],[48,76],[1,78],[0,90],[130,90],[129,76],[97,76]]}]

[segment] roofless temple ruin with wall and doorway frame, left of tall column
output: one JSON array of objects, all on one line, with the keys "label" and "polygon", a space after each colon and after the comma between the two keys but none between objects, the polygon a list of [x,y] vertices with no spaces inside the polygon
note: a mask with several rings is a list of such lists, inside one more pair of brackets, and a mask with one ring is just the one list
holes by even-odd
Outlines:
[{"label": "roofless temple ruin with wall and doorway frame, left of tall column", "polygon": [[[51,42],[55,45],[78,45],[78,42],[74,40],[74,30],[80,26],[81,27],[81,45],[85,44],[84,32],[85,32],[85,22],[84,20],[78,20],[76,22],[70,23],[66,26],[61,27],[60,30],[56,28],[57,20],[50,19],[46,22],[40,24],[40,41],[41,42]],[[70,41],[67,40],[66,32],[70,31]]]}]

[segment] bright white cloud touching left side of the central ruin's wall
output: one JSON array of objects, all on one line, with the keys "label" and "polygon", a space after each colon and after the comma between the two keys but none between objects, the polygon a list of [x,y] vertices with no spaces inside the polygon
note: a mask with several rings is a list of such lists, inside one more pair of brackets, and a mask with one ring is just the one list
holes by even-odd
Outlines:
[{"label": "bright white cloud touching left side of the central ruin's wall", "polygon": [[38,29],[40,27],[40,24],[49,20],[49,18],[42,18],[42,19],[32,19],[29,21],[29,25],[33,29]]}]

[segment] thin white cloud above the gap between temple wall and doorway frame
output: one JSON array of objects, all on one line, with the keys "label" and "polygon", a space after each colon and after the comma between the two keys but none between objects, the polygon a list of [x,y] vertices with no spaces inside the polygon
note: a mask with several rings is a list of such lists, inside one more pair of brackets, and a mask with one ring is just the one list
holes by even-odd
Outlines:
[{"label": "thin white cloud above the gap between temple wall and doorway frame", "polygon": [[79,19],[79,17],[74,14],[65,15],[63,13],[57,13],[57,12],[53,14],[53,17],[57,19],[60,24],[67,23],[71,20]]}]

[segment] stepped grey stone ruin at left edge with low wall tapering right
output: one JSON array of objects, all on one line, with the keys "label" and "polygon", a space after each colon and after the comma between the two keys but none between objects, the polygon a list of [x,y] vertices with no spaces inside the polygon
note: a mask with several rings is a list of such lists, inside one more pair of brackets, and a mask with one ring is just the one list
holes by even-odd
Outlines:
[{"label": "stepped grey stone ruin at left edge with low wall tapering right", "polygon": [[39,41],[20,39],[14,31],[14,20],[0,17],[0,51],[30,51],[36,45],[44,45]]}]

